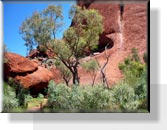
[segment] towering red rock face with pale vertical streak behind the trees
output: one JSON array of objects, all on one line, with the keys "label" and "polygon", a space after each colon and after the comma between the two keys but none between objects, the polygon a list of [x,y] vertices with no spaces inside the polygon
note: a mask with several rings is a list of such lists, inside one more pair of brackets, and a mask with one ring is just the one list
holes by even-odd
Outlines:
[{"label": "towering red rock face with pale vertical streak behind the trees", "polygon": [[[87,9],[96,9],[103,16],[104,32],[100,36],[99,48],[104,48],[110,43],[107,53],[110,54],[109,63],[106,66],[106,76],[110,84],[119,81],[123,76],[118,68],[132,48],[137,48],[140,57],[147,50],[147,2],[140,3],[104,3],[98,0],[78,0],[77,4]],[[96,58],[103,65],[105,53],[101,52],[90,59]],[[88,59],[88,58],[85,58]],[[80,82],[91,83],[91,78],[79,67]],[[96,82],[101,80],[100,72]]]}]

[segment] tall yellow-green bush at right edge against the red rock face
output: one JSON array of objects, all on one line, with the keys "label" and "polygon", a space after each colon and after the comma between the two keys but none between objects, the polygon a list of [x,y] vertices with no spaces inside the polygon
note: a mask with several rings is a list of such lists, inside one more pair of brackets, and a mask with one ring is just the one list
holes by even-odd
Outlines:
[{"label": "tall yellow-green bush at right edge against the red rock face", "polygon": [[147,109],[147,68],[146,64],[140,61],[136,49],[132,49],[132,55],[119,64],[119,69],[124,75],[121,85],[133,89],[138,109]]}]

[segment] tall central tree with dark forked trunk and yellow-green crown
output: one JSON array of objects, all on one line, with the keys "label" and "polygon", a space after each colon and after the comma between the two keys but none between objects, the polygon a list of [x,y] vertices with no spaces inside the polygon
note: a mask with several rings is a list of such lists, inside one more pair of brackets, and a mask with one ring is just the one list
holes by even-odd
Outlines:
[{"label": "tall central tree with dark forked trunk and yellow-green crown", "polygon": [[58,59],[71,71],[73,83],[79,84],[79,60],[86,50],[97,47],[99,35],[103,31],[102,16],[93,9],[71,9],[73,25],[64,33],[63,40],[52,40],[53,50]]}]

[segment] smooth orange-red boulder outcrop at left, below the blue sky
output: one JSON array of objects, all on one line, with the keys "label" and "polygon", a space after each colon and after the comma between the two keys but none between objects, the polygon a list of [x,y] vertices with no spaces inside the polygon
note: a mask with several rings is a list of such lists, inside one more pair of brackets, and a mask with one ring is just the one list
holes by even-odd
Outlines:
[{"label": "smooth orange-red boulder outcrop at left, below the blue sky", "polygon": [[53,79],[53,74],[48,69],[38,65],[37,61],[29,60],[15,53],[5,53],[4,77],[12,77],[24,88],[40,92],[47,87]]}]

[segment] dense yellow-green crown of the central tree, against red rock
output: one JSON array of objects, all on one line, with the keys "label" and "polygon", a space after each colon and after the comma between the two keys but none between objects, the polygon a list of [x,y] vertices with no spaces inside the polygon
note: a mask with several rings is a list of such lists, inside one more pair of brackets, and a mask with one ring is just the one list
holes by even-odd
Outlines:
[{"label": "dense yellow-green crown of the central tree, against red rock", "polygon": [[81,9],[77,6],[72,10],[75,10],[73,26],[65,31],[64,39],[73,55],[80,58],[86,50],[91,51],[97,47],[99,35],[103,31],[102,16],[93,9]]}]

